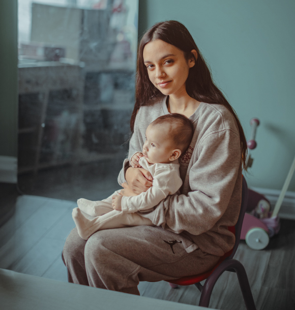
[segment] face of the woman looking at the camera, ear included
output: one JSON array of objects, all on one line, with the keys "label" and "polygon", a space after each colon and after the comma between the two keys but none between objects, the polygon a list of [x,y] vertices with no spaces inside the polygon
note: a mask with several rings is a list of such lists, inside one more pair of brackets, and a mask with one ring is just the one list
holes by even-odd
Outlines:
[{"label": "face of the woman looking at the camera, ear included", "polygon": [[186,60],[182,50],[157,39],[144,46],[143,61],[151,82],[163,95],[187,94],[185,83],[194,59]]}]

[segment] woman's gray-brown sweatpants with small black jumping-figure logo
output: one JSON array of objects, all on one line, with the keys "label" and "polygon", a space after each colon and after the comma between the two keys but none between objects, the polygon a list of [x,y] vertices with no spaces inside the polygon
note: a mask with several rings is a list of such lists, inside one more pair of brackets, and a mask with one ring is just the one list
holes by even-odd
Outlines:
[{"label": "woman's gray-brown sweatpants with small black jumping-figure logo", "polygon": [[88,240],[74,228],[62,257],[69,282],[135,295],[139,281],[199,274],[219,260],[200,250],[187,253],[178,234],[153,226],[101,230]]}]

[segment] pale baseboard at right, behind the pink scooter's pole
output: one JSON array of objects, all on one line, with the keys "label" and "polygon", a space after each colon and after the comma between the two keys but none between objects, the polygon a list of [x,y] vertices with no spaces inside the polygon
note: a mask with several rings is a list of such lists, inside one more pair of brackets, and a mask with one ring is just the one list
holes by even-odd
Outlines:
[{"label": "pale baseboard at right, behind the pink scooter's pole", "polygon": [[[251,188],[251,190],[265,196],[271,203],[272,209],[280,196],[281,191]],[[281,219],[295,220],[295,192],[286,192],[283,203],[281,205],[279,216]]]}]

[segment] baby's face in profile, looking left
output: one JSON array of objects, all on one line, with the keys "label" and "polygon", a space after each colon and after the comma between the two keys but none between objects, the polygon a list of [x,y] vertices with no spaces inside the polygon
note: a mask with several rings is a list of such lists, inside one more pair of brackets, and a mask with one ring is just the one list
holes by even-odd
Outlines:
[{"label": "baby's face in profile, looking left", "polygon": [[149,126],[145,132],[146,140],[142,152],[150,164],[170,163],[175,147],[169,137],[169,130],[164,126]]}]

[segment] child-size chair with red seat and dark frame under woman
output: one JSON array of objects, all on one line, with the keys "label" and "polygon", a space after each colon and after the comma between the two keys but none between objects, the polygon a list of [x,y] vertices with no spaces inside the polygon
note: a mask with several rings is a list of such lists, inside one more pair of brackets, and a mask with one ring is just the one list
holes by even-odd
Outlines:
[{"label": "child-size chair with red seat and dark frame under woman", "polygon": [[[256,310],[253,296],[251,293],[248,277],[245,271],[244,266],[237,260],[233,259],[235,252],[238,249],[241,229],[243,224],[244,215],[247,208],[248,202],[248,187],[245,178],[242,180],[242,203],[241,210],[237,224],[232,227],[228,227],[228,230],[235,234],[235,243],[233,249],[225,253],[218,261],[216,266],[204,273],[192,276],[185,276],[177,280],[169,280],[170,286],[172,288],[178,287],[178,285],[192,285],[194,284],[199,291],[201,292],[201,297],[199,301],[199,306],[209,307],[211,293],[213,291],[214,285],[217,282],[218,278],[224,271],[236,272],[239,280],[239,284],[242,290],[244,301],[246,304],[247,310]],[[206,282],[202,286],[201,281],[205,280]]]}]

